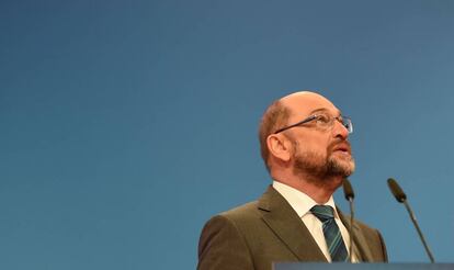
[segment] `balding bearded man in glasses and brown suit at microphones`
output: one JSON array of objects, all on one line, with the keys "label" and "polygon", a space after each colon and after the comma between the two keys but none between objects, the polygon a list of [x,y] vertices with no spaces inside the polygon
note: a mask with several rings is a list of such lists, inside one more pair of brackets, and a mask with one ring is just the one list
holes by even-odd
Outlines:
[{"label": "balding bearded man in glasses and brown suit at microphones", "polygon": [[[332,194],[354,171],[350,119],[309,91],[271,104],[260,123],[273,184],[256,202],[214,216],[203,228],[197,269],[272,269],[279,261],[348,261],[348,217]],[[387,261],[378,230],[353,225],[352,260]]]}]

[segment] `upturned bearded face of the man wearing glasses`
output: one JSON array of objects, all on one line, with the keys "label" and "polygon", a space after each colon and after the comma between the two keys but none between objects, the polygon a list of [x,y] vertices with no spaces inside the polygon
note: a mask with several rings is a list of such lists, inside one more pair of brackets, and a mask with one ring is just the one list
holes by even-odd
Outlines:
[{"label": "upturned bearded face of the man wearing glasses", "polygon": [[[324,97],[309,98],[311,99],[299,102],[305,103],[299,105],[304,110],[293,110],[292,120],[295,122],[290,123],[296,123],[313,114],[340,115],[339,110]],[[320,123],[314,121],[291,128],[286,133],[293,145],[294,173],[322,185],[333,178],[343,179],[350,176],[354,171],[355,164],[351,155],[347,128],[337,120],[330,127],[320,126]]]}]

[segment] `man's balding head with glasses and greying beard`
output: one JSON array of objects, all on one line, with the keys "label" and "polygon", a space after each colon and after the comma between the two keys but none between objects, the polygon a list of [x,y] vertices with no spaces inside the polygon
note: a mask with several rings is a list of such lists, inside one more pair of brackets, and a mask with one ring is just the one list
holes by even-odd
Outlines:
[{"label": "man's balding head with glasses and greying beard", "polygon": [[354,171],[348,136],[339,109],[308,91],[270,105],[259,131],[262,158],[273,178],[293,177],[318,187],[334,180],[338,185]]}]

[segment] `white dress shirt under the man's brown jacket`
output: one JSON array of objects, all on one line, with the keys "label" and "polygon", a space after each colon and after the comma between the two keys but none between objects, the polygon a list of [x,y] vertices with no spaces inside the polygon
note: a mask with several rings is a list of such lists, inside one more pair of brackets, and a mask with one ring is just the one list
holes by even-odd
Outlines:
[{"label": "white dress shirt under the man's brown jacket", "polygon": [[[284,183],[273,181],[273,188],[284,196],[284,199],[290,203],[290,205],[295,210],[298,216],[302,218],[304,225],[306,225],[309,233],[313,235],[314,239],[318,244],[318,247],[324,252],[328,261],[331,262],[331,256],[328,251],[327,243],[325,240],[322,223],[318,220],[311,212],[310,209],[318,203],[315,202],[307,194],[290,187]],[[329,205],[334,210],[334,221],[339,226],[341,232],[343,243],[345,244],[347,251],[350,247],[350,235],[345,226],[342,224],[339,218],[338,211],[336,210],[334,199],[331,196],[325,205]],[[355,254],[352,257],[353,262],[357,262]]]}]

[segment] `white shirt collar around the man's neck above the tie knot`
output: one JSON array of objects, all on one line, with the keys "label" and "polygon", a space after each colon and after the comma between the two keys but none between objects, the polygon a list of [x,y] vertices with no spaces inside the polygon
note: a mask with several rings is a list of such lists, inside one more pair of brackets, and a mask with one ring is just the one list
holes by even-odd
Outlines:
[{"label": "white shirt collar around the man's neck above the tie knot", "polygon": [[[300,192],[299,190],[294,189],[285,183],[273,181],[273,188],[279,193],[281,193],[282,196],[284,196],[284,199],[290,203],[292,209],[295,210],[299,217],[303,217],[304,215],[310,213],[310,209],[318,204],[306,193]],[[334,199],[332,198],[332,195],[324,205],[331,206],[334,210],[334,217],[339,218],[338,211],[334,204]]]}]

